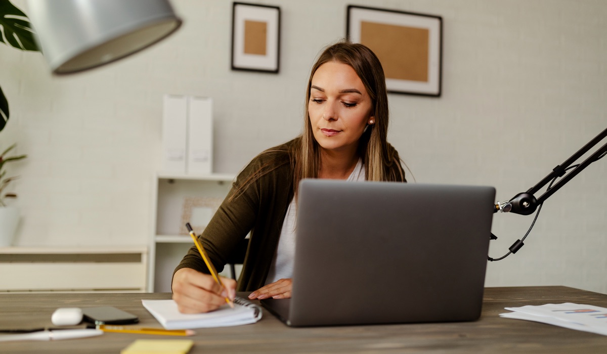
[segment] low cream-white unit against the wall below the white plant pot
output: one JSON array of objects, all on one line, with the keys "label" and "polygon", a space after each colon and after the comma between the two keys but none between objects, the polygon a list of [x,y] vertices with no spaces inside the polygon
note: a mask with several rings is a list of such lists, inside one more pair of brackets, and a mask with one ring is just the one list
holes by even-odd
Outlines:
[{"label": "low cream-white unit against the wall below the white plant pot", "polygon": [[0,247],[0,293],[146,291],[148,249]]}]

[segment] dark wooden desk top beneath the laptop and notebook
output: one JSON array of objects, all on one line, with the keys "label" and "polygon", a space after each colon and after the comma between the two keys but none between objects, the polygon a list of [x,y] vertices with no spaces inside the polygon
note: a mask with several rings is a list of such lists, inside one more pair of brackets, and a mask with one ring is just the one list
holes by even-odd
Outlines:
[{"label": "dark wooden desk top beneath the laptop and notebook", "polygon": [[[112,305],[141,325],[160,327],[141,299],[168,293],[0,294],[0,327],[50,325],[58,307]],[[397,300],[398,301],[398,300]],[[486,288],[475,322],[290,328],[267,311],[256,324],[196,330],[191,353],[605,353],[607,336],[536,322],[500,318],[507,306],[577,302],[607,307],[607,294],[568,287]],[[2,342],[0,353],[120,353],[138,338],[181,338],[128,333],[52,342]]]}]

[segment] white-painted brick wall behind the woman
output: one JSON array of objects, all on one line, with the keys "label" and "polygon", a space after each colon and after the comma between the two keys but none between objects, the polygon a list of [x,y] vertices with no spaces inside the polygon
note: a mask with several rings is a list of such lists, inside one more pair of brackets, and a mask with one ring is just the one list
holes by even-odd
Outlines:
[{"label": "white-painted brick wall behind the woman", "polygon": [[[256,2],[256,1],[253,1]],[[260,1],[282,10],[279,75],[230,70],[231,2],[174,0],[185,24],[132,58],[52,77],[39,53],[0,46],[12,117],[0,145],[29,158],[19,245],[141,245],[160,166],[161,96],[214,100],[216,172],[294,137],[314,57],[345,35],[347,0]],[[365,2],[357,2],[365,4]],[[15,0],[27,12],[23,0]],[[526,191],[606,128],[607,2],[377,0],[443,16],[443,97],[390,95],[390,141],[417,182]],[[518,254],[488,265],[487,285],[568,285],[607,293],[607,159],[544,206]],[[532,216],[497,214],[490,255]]]}]

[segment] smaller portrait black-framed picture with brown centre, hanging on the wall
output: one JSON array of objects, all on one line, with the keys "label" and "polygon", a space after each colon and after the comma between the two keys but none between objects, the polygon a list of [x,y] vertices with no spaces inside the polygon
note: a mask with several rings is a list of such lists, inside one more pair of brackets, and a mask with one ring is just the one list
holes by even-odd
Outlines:
[{"label": "smaller portrait black-framed picture with brown centre, hanging on the wall", "polygon": [[278,73],[280,7],[234,2],[232,70]]}]

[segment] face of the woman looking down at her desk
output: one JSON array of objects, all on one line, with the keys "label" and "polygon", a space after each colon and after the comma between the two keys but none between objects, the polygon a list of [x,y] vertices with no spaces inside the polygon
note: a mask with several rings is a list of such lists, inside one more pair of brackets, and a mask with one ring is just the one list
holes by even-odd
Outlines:
[{"label": "face of the woman looking down at her desk", "polygon": [[371,98],[348,64],[329,61],[314,73],[308,114],[321,148],[356,151],[362,132],[373,117]]}]

